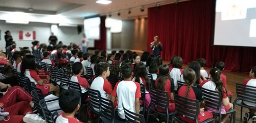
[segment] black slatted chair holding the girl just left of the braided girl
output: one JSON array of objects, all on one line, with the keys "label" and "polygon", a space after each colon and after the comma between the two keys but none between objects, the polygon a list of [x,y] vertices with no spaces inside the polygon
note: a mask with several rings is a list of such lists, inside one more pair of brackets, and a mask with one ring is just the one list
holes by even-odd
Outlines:
[{"label": "black slatted chair holding the girl just left of the braided girl", "polygon": [[[150,89],[150,97],[151,97],[151,102],[150,105],[148,106],[147,110],[147,117],[146,117],[146,123],[148,122],[148,116],[150,111],[155,112],[156,114],[166,116],[167,117],[167,122],[169,122],[169,116],[173,115],[173,112],[168,111],[168,105],[169,105],[169,94],[167,91],[162,91],[158,90],[155,88]],[[152,105],[154,105],[152,107]],[[155,109],[155,107],[158,107],[159,109],[165,110],[166,113],[159,112]]]}]

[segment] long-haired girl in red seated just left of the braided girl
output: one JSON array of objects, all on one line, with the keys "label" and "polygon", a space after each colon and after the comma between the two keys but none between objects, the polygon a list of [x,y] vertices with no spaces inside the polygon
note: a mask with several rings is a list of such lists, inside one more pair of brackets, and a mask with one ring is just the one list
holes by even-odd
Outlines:
[{"label": "long-haired girl in red seated just left of the braided girl", "polygon": [[[159,78],[155,80],[156,89],[167,91],[169,94],[169,106],[168,111],[175,111],[174,104],[174,81],[170,77],[170,68],[167,64],[163,64],[159,67]],[[165,112],[164,110],[157,108],[159,112]]]}]

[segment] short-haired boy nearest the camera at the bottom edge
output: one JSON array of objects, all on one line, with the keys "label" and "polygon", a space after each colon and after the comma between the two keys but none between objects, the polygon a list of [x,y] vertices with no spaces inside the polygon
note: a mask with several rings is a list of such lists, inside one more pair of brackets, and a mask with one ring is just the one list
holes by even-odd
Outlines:
[{"label": "short-haired boy nearest the camera at the bottom edge", "polygon": [[59,114],[55,123],[82,123],[74,117],[81,105],[80,95],[75,89],[68,89],[60,94],[59,105],[63,112]]}]

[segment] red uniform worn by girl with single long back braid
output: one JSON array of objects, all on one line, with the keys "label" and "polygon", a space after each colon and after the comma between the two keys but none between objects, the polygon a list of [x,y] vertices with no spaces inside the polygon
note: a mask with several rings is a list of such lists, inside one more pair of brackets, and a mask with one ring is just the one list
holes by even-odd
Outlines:
[{"label": "red uniform worn by girl with single long back braid", "polygon": [[[178,90],[178,95],[179,96],[182,96],[182,97],[186,97],[186,91],[187,91],[187,86],[182,86],[179,90]],[[196,88],[196,87],[191,87],[190,88],[190,91],[189,91],[189,95],[188,95],[188,98],[191,98],[191,99],[197,99],[199,100],[200,102],[203,101],[203,98],[202,98],[202,92],[199,88]],[[212,118],[213,115],[211,112],[202,112],[202,113],[199,113],[198,114],[198,123],[201,123],[209,118]],[[185,121],[187,123],[195,123],[195,121],[192,121],[191,119],[188,119],[186,117],[183,117],[180,115],[180,118],[182,121]]]}]

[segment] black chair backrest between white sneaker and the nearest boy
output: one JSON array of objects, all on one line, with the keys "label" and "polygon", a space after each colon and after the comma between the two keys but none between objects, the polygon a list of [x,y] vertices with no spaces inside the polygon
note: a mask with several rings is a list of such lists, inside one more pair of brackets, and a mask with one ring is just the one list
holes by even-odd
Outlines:
[{"label": "black chair backrest between white sneaker and the nearest boy", "polygon": [[52,113],[51,111],[49,111],[49,109],[47,108],[46,102],[44,99],[41,99],[39,101],[39,105],[41,106],[41,109],[43,111],[45,120],[47,123],[54,123],[54,120],[52,119]]}]

